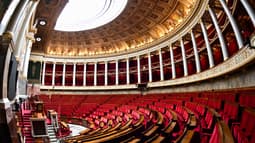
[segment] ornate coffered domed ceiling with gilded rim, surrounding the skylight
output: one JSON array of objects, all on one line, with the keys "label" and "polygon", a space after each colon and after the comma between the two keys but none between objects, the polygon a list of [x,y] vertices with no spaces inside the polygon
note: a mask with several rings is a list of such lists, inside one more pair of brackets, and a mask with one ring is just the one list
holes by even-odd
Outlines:
[{"label": "ornate coffered domed ceiling with gilded rim, surrounding the skylight", "polygon": [[54,27],[68,0],[41,0],[32,52],[61,57],[102,57],[133,52],[171,37],[193,14],[197,1],[128,0],[122,13],[110,23],[90,30],[64,32]]}]

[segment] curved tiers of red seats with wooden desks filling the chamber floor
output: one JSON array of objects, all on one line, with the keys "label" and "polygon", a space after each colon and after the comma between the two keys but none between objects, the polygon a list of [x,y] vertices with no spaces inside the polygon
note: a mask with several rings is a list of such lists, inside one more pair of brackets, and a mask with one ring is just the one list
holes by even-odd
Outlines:
[{"label": "curved tiers of red seats with wooden desks filling the chamber floor", "polygon": [[[86,122],[83,125],[88,129],[80,135],[62,138],[66,143],[252,143],[253,94],[254,91],[214,91],[39,98],[46,110],[54,109],[60,114],[60,120]],[[71,102],[65,102],[67,98]]]}]

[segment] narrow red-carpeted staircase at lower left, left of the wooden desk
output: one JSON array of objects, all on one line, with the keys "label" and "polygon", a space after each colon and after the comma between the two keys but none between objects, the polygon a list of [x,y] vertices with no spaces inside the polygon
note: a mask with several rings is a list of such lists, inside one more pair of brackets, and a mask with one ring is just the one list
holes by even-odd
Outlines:
[{"label": "narrow red-carpeted staircase at lower left, left of the wooden desk", "polygon": [[24,111],[23,112],[23,130],[22,134],[26,137],[25,142],[26,143],[34,143],[34,139],[31,134],[31,123],[30,118],[32,117],[32,113],[30,111]]}]

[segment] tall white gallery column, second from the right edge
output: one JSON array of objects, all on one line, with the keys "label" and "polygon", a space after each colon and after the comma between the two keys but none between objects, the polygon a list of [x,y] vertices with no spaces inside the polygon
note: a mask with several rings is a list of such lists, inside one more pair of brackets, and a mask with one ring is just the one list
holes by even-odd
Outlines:
[{"label": "tall white gallery column, second from the right edge", "polygon": [[234,16],[231,14],[230,10],[228,9],[228,6],[225,2],[225,0],[219,0],[225,13],[227,14],[228,16],[228,19],[230,21],[230,24],[234,30],[234,33],[235,33],[235,36],[236,36],[236,40],[237,40],[237,43],[238,43],[238,47],[239,49],[243,47],[243,39],[242,39],[242,35],[240,33],[240,30],[238,29],[238,26],[236,24],[236,21],[234,19]]}]

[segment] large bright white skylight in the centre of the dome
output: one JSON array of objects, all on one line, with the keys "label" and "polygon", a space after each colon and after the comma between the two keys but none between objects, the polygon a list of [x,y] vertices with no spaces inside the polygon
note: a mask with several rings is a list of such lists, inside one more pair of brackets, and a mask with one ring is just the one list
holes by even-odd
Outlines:
[{"label": "large bright white skylight in the centre of the dome", "polygon": [[105,25],[124,10],[128,0],[69,0],[55,30],[83,31]]}]

